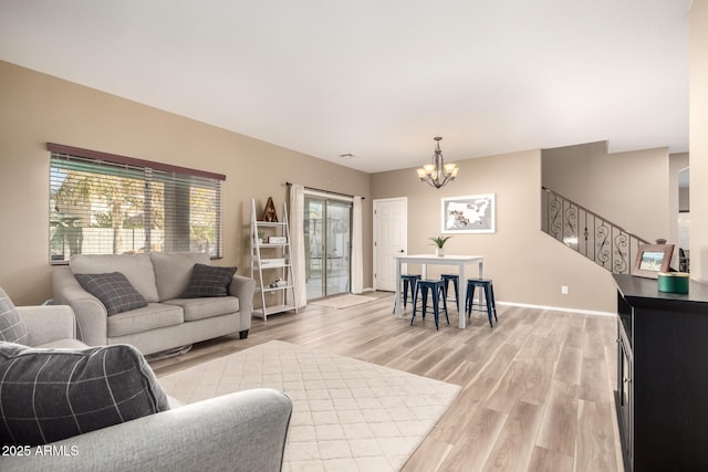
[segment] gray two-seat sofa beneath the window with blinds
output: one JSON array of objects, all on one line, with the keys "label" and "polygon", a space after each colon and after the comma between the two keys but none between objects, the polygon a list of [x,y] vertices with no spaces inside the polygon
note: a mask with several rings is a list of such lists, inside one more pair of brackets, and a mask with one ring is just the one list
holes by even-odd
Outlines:
[{"label": "gray two-seat sofa beneath the window with blinds", "polygon": [[[206,253],[139,253],[72,256],[53,273],[53,303],[70,305],[79,338],[90,346],[129,344],[144,355],[239,333],[248,336],[256,282],[233,275],[231,296],[180,298],[196,263],[209,265]],[[106,307],[74,274],[121,272],[148,302],[146,307],[107,316]]]}]

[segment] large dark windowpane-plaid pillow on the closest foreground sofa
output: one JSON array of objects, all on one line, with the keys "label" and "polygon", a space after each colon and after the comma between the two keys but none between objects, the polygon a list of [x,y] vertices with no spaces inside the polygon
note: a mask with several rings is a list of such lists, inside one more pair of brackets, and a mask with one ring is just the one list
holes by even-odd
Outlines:
[{"label": "large dark windowpane-plaid pillow on the closest foreground sofa", "polygon": [[133,346],[70,350],[0,342],[2,444],[44,444],[167,409]]}]

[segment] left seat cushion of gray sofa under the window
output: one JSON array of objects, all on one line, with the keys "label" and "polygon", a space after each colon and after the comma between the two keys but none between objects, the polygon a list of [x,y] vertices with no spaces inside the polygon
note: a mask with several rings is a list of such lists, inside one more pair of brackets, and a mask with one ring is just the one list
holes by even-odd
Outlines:
[{"label": "left seat cushion of gray sofa under the window", "polygon": [[150,329],[180,325],[185,322],[179,306],[164,303],[148,303],[144,308],[131,310],[108,317],[108,337],[144,333]]}]

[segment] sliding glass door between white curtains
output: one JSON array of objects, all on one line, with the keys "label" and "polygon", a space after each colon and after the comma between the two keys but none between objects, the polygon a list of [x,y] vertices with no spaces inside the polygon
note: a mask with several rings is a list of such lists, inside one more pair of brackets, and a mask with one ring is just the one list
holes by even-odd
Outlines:
[{"label": "sliding glass door between white curtains", "polygon": [[308,300],[351,290],[352,203],[305,195]]}]

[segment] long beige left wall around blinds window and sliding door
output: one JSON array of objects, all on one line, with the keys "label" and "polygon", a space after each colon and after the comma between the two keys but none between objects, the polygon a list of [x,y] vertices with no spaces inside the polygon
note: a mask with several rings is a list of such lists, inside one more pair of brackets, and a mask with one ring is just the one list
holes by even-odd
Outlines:
[{"label": "long beige left wall around blinds window and sliding door", "polygon": [[[195,96],[198,99],[198,96]],[[285,181],[366,197],[364,286],[372,286],[369,176],[264,141],[0,62],[0,286],[17,304],[51,297],[46,143],[225,174],[223,259],[249,274],[249,203]]]}]

